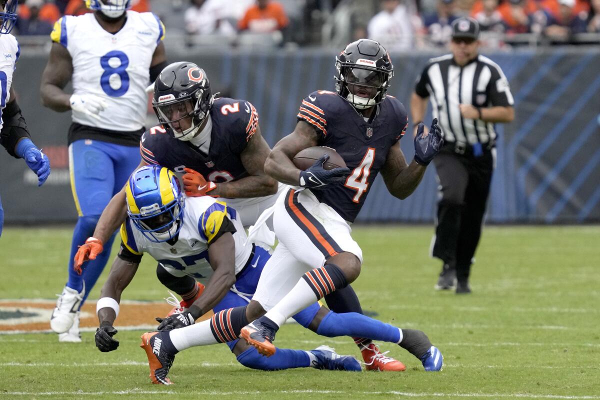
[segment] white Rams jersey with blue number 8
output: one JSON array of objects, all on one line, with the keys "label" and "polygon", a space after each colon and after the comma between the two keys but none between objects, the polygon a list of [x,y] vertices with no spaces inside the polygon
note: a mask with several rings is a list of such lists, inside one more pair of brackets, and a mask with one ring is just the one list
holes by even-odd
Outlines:
[{"label": "white Rams jersey with blue number 8", "polygon": [[62,44],[73,60],[74,94],[103,97],[108,108],[100,119],[73,112],[73,121],[115,131],[140,130],[146,121],[152,55],[164,38],[164,25],[155,14],[127,11],[116,34],[105,31],[94,13],[64,16],[50,38]]}]

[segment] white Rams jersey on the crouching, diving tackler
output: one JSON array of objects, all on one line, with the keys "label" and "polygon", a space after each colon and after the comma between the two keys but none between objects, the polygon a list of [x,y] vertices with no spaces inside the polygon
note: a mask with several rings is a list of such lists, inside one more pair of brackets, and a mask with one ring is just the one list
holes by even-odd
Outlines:
[{"label": "white Rams jersey on the crouching, diving tackler", "polygon": [[208,245],[218,237],[223,218],[229,218],[235,226],[235,273],[241,272],[252,253],[252,244],[245,245],[247,236],[236,210],[223,201],[212,197],[188,197],[185,199],[183,226],[175,245],[155,243],[137,230],[131,219],[121,225],[121,240],[133,254],[147,252],[167,269],[176,269],[206,284],[212,275],[208,259]]}]

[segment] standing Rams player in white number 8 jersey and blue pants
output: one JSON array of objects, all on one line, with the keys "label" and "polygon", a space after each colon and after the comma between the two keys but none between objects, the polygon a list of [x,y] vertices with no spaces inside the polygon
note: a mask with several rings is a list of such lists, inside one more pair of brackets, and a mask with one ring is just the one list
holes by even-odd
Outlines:
[{"label": "standing Rams player in white number 8 jersey and blue pants", "polygon": [[[59,341],[80,342],[78,312],[109,252],[73,271],[77,246],[92,236],[102,210],[140,163],[146,119],[145,88],[166,65],[164,25],[152,13],[128,10],[130,0],[87,0],[93,13],[65,16],[50,34],[41,79],[44,106],[71,110],[68,133],[71,189],[79,219],[71,242],[68,281],[50,320]],[[64,91],[73,83],[73,94]],[[110,248],[112,239],[107,240]]]}]

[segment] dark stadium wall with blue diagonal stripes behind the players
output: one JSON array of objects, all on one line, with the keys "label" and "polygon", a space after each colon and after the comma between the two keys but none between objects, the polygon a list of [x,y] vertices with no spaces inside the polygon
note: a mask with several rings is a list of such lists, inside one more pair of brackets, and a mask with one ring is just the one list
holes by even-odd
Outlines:
[{"label": "dark stadium wall with blue diagonal stripes behind the players", "polygon": [[[171,61],[189,59],[205,68],[216,91],[250,100],[271,146],[293,130],[303,97],[314,89],[333,88],[335,52],[167,52]],[[600,221],[600,49],[484,54],[502,67],[516,103],[515,121],[498,125],[488,222]],[[408,106],[417,75],[436,55],[392,54],[395,77],[390,93]],[[35,143],[50,157],[52,174],[37,188],[25,163],[0,152],[0,196],[7,223],[70,222],[77,217],[68,173],[70,114],[52,112],[40,103],[46,58],[24,49],[14,85]],[[148,126],[152,119],[149,115]],[[401,140],[407,160],[414,154],[410,136]],[[433,167],[404,201],[390,196],[378,178],[358,221],[430,222],[436,201]]]}]

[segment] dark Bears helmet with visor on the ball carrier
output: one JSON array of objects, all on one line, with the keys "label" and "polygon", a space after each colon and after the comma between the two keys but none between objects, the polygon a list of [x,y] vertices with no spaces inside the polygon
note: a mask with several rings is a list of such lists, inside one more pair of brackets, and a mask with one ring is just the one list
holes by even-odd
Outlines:
[{"label": "dark Bears helmet with visor on the ball carrier", "polygon": [[335,91],[358,110],[382,103],[392,76],[392,60],[374,40],[352,42],[335,58]]}]

